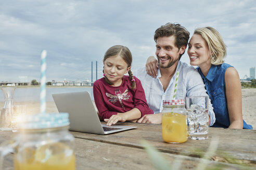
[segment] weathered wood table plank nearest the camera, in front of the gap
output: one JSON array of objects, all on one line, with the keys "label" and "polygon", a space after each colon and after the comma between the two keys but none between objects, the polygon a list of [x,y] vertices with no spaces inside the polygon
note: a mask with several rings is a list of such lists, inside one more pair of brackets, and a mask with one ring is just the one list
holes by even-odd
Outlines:
[{"label": "weathered wood table plank nearest the camera, in front of the gap", "polygon": [[[14,135],[15,133],[11,132],[1,132],[0,142],[9,140]],[[112,138],[111,135],[98,136]],[[154,169],[144,149],[109,144],[102,141],[75,138],[76,169]],[[194,169],[198,166],[198,162],[202,160],[172,153],[162,153],[162,155],[170,164],[182,160],[181,169]],[[14,169],[12,154],[8,154],[5,158],[4,167],[4,169]],[[209,160],[207,162],[207,169],[213,167],[248,169],[248,166]]]}]

